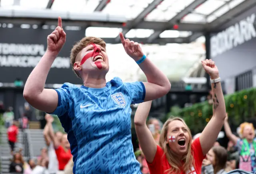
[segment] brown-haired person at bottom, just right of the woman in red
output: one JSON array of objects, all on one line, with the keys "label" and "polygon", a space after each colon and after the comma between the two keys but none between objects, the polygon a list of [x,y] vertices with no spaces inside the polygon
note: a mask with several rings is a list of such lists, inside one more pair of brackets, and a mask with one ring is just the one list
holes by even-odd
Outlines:
[{"label": "brown-haired person at bottom, just right of the woman in red", "polygon": [[206,154],[202,162],[202,174],[226,174],[227,150],[222,146],[214,146]]}]

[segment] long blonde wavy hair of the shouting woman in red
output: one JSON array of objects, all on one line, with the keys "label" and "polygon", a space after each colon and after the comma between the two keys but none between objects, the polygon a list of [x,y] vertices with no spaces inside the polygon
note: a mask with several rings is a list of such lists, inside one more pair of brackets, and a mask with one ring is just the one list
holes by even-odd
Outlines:
[{"label": "long blonde wavy hair of the shouting woman in red", "polygon": [[[168,125],[170,124],[170,122],[172,122],[174,120],[179,120],[179,121],[183,122],[183,124],[186,126],[186,128],[188,130],[188,134],[190,137],[190,140],[188,142],[188,150],[186,152],[186,155],[182,158],[182,161],[184,162],[183,165],[176,158],[174,152],[172,152],[172,150],[170,149],[168,144],[166,144]],[[190,129],[188,128],[187,124],[185,123],[185,121],[179,117],[170,117],[163,125],[162,132],[160,134],[160,140],[159,140],[159,146],[164,150],[164,154],[166,155],[168,163],[170,164],[170,166],[172,166],[172,168],[170,168],[164,172],[168,172],[168,174],[171,174],[172,172],[181,173],[180,166],[182,166],[182,169],[184,171],[190,170],[190,168],[193,166],[193,163],[194,163],[194,158],[192,156],[192,150],[191,150],[191,144],[192,144],[192,134],[191,134]]]}]

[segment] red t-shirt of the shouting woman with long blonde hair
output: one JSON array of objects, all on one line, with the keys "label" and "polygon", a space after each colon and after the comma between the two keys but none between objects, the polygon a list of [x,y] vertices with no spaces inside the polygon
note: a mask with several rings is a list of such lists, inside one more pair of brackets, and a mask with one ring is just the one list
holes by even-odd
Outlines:
[{"label": "red t-shirt of the shouting woman with long blonde hair", "polygon": [[[191,148],[194,157],[194,167],[191,169],[192,172],[182,171],[181,174],[201,174],[202,161],[205,158],[205,156],[202,152],[202,147],[199,138],[194,140],[194,142],[191,145]],[[148,168],[150,170],[150,174],[168,174],[168,172],[164,171],[170,169],[171,166],[166,159],[164,150],[162,150],[160,146],[157,146],[156,155],[154,157],[153,162],[148,162]]]}]

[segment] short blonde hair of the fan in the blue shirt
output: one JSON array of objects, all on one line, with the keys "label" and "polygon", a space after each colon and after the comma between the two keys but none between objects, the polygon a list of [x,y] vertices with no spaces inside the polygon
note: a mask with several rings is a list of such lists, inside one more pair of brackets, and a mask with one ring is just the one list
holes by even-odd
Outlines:
[{"label": "short blonde hair of the fan in the blue shirt", "polygon": [[79,78],[80,78],[79,74],[74,70],[74,63],[76,62],[76,56],[80,51],[82,51],[83,48],[85,48],[86,46],[88,46],[92,43],[98,44],[98,45],[102,46],[104,49],[106,49],[106,42],[104,42],[104,40],[102,40],[101,38],[88,36],[88,37],[84,37],[81,40],[79,40],[78,42],[76,42],[76,44],[73,46],[73,48],[71,50],[70,63],[72,65],[72,70]]}]

